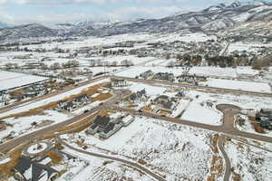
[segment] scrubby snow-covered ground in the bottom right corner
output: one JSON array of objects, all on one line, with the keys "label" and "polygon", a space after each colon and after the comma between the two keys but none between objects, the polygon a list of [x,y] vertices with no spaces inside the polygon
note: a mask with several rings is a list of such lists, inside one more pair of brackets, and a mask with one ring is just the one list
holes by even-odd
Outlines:
[{"label": "scrubby snow-covered ground in the bottom right corner", "polygon": [[226,152],[233,167],[232,179],[272,180],[272,153],[254,148],[234,139],[227,142]]}]

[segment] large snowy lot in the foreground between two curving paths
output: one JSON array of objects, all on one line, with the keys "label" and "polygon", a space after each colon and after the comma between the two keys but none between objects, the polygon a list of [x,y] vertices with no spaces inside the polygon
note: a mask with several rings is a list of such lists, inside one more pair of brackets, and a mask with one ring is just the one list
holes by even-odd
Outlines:
[{"label": "large snowy lot in the foreground between two curving paths", "polygon": [[129,127],[122,128],[106,140],[87,136],[84,132],[62,137],[74,147],[79,147],[74,142],[82,138],[89,151],[102,149],[120,157],[142,159],[148,163],[146,167],[171,181],[206,179],[212,156],[210,134],[201,129],[136,117]]}]

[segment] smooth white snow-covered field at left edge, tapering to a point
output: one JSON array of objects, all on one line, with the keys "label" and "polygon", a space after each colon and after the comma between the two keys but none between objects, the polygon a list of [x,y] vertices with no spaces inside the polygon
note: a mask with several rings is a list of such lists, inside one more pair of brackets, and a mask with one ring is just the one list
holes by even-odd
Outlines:
[{"label": "smooth white snow-covered field at left edge, tapering to a point", "polygon": [[48,80],[48,78],[24,73],[0,71],[0,90],[8,90],[45,80]]}]

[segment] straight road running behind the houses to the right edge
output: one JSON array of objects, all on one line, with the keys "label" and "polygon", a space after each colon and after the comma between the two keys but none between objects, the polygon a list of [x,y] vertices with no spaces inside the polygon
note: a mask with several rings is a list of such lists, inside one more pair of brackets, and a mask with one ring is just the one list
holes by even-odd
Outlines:
[{"label": "straight road running behind the houses to the right edge", "polygon": [[223,88],[216,88],[216,87],[208,87],[208,86],[201,86],[201,85],[191,85],[189,83],[174,83],[170,81],[159,81],[159,80],[140,80],[140,79],[134,79],[134,78],[127,78],[127,77],[120,77],[120,76],[112,76],[113,78],[117,79],[125,79],[127,81],[134,81],[134,82],[141,82],[141,83],[147,83],[147,84],[164,84],[168,86],[177,86],[177,87],[186,87],[190,89],[195,90],[208,90],[211,92],[217,92],[217,93],[235,93],[235,94],[243,94],[243,95],[251,95],[251,96],[258,96],[258,97],[272,97],[272,93],[266,93],[266,92],[257,92],[257,91],[246,91],[246,90],[232,90],[232,89],[223,89]]}]

